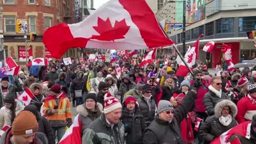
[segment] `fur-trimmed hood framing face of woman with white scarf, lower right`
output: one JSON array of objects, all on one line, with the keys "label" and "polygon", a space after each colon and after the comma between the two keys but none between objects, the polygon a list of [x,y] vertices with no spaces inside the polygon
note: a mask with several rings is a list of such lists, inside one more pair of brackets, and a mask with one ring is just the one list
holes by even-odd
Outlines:
[{"label": "fur-trimmed hood framing face of woman with white scarf, lower right", "polygon": [[237,106],[231,100],[221,100],[220,102],[218,102],[217,105],[214,107],[214,115],[218,118],[221,117],[221,112],[224,107],[230,108],[230,115],[232,116],[232,118],[236,117]]}]

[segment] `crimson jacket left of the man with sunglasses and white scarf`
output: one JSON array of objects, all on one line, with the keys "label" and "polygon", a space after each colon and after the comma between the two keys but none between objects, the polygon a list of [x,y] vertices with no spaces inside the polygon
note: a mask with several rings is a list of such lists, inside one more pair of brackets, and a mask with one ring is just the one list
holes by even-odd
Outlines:
[{"label": "crimson jacket left of the man with sunglasses and white scarf", "polygon": [[[194,80],[190,81],[190,85],[193,85],[194,84]],[[205,112],[206,111],[206,108],[205,108],[205,105],[204,105],[204,95],[209,92],[209,89],[208,89],[208,84],[207,82],[202,79],[202,84],[200,87],[199,87],[199,90],[197,91],[197,98],[195,100],[195,105],[196,105],[196,111],[198,112]]]}]

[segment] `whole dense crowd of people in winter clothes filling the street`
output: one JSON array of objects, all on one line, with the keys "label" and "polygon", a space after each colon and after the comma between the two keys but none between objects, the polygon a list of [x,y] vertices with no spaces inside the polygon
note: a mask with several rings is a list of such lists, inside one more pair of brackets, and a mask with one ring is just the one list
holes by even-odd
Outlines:
[{"label": "whole dense crowd of people in winter clothes filling the street", "polygon": [[[84,144],[210,143],[246,122],[247,137],[234,133],[227,142],[256,143],[255,69],[220,66],[209,74],[206,65],[195,65],[193,75],[180,77],[174,61],[137,63],[51,61],[3,77],[0,130],[11,127],[0,143],[57,143],[73,124],[73,107]],[[27,106],[17,99],[26,89],[34,94]]]}]

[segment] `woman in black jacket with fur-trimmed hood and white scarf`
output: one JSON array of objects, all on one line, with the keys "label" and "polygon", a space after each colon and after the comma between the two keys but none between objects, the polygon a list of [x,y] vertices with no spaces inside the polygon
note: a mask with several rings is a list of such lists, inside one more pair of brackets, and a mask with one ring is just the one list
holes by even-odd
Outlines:
[{"label": "woman in black jacket with fur-trimmed hood and white scarf", "polygon": [[237,107],[230,100],[222,100],[214,107],[214,115],[207,117],[199,127],[199,138],[210,143],[214,138],[238,125],[235,120]]}]

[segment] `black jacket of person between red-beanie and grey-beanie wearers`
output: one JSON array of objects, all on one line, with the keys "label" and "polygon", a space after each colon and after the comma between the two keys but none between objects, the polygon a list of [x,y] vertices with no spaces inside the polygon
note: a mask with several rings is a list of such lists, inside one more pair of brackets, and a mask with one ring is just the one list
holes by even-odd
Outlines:
[{"label": "black jacket of person between red-beanie and grey-beanie wearers", "polygon": [[147,102],[143,97],[141,97],[140,99],[137,99],[137,102],[139,104],[141,114],[145,118],[146,126],[149,126],[149,124],[155,119],[156,102],[153,100],[153,97],[151,97],[151,101],[150,101],[151,109],[150,109],[150,111],[149,111]]}]

